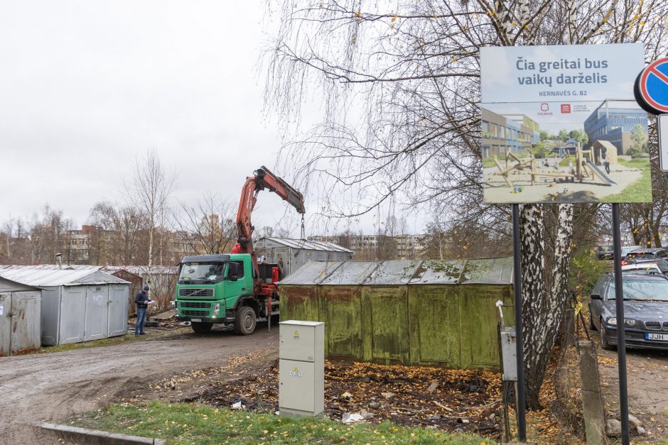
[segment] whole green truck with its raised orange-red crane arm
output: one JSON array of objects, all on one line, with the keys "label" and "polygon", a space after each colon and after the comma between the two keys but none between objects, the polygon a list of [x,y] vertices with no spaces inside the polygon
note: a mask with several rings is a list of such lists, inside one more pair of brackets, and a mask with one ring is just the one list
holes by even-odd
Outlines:
[{"label": "whole green truck with its raised orange-red crane arm", "polygon": [[237,211],[237,245],[231,254],[185,256],[176,282],[176,319],[190,322],[203,334],[213,324],[234,324],[240,335],[252,334],[255,324],[279,314],[276,282],[282,271],[276,264],[258,264],[253,248],[251,214],[257,194],[268,190],[291,204],[301,218],[304,235],[303,195],[264,165],[246,178]]}]

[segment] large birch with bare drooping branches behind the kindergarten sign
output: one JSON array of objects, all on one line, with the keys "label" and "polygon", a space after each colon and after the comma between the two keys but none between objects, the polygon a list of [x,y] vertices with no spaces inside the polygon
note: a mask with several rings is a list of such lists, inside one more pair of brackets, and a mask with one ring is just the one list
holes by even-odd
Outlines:
[{"label": "large birch with bare drooping branches behind the kindergarten sign", "polygon": [[[480,46],[642,41],[649,57],[665,49],[662,0],[300,5],[273,4],[281,26],[268,52],[266,99],[295,123],[282,162],[296,166],[294,183],[316,195],[327,216],[392,202],[507,234],[510,209],[482,204]],[[302,131],[302,106],[311,107],[313,94],[323,97],[322,121]],[[527,205],[521,219],[527,404],[537,408],[567,304],[573,207]]]}]

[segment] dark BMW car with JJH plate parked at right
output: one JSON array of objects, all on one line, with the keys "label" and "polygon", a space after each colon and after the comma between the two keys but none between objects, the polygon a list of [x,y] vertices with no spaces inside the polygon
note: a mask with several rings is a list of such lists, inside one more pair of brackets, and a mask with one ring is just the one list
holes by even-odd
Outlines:
[{"label": "dark BMW car with JJH plate parked at right", "polygon": [[[628,273],[623,279],[626,346],[668,349],[668,278]],[[600,344],[617,344],[615,277],[603,275],[589,300],[589,323],[600,332]]]}]

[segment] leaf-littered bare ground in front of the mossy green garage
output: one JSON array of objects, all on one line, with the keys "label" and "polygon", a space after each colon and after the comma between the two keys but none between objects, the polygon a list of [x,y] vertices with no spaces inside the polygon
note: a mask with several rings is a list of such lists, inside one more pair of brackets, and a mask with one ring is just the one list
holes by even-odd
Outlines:
[{"label": "leaf-littered bare ground in front of the mossy green garage", "polygon": [[[206,388],[197,400],[230,407],[242,402],[254,412],[278,410],[277,360],[239,378]],[[365,410],[370,422],[423,425],[498,438],[500,375],[481,370],[450,370],[372,363],[325,362],[325,414],[343,419]]]}]

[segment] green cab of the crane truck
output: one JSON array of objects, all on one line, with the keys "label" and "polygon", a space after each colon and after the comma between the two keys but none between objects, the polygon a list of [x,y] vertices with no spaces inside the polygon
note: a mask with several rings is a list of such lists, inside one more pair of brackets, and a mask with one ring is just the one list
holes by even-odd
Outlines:
[{"label": "green cab of the crane truck", "polygon": [[213,324],[234,324],[251,334],[266,312],[254,295],[254,268],[247,253],[185,256],[176,282],[176,319],[203,334]]}]

